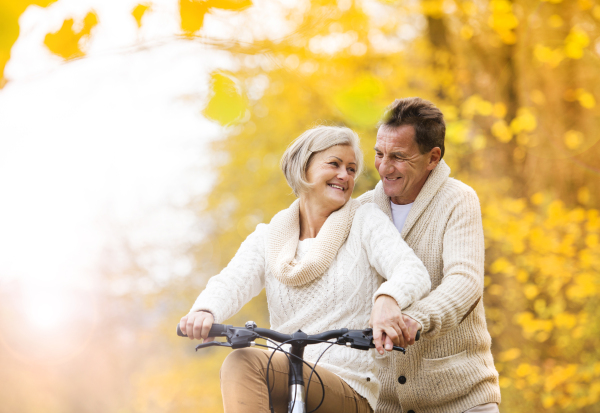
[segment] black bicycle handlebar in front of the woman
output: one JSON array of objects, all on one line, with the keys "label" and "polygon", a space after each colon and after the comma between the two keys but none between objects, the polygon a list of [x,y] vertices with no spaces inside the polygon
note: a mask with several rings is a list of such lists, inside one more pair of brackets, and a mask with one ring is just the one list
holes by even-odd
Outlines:
[{"label": "black bicycle handlebar in front of the woman", "polygon": [[[417,332],[416,340],[419,339],[420,331]],[[187,337],[183,334],[179,324],[177,324],[177,335],[180,337]],[[269,338],[279,343],[290,343],[290,344],[316,344],[323,341],[337,339],[335,344],[346,345],[351,348],[359,350],[368,350],[375,348],[373,344],[373,329],[366,328],[364,330],[348,330],[342,328],[339,330],[325,331],[319,334],[308,335],[300,330],[293,334],[283,334],[278,331],[270,330],[268,328],[256,327],[256,324],[252,321],[248,321],[245,327],[233,327],[225,324],[213,324],[208,333],[208,337],[226,337],[227,343],[223,342],[208,342],[199,344],[196,350],[209,347],[209,346],[223,346],[231,347],[233,349],[250,347],[254,345],[254,340],[257,338]],[[394,350],[402,351],[406,350],[403,347],[394,346]]]}]

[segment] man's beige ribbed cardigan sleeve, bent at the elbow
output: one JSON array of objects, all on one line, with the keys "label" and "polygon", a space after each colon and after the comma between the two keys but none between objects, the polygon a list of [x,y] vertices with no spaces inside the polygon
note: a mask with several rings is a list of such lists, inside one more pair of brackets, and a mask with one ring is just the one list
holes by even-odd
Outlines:
[{"label": "man's beige ribbed cardigan sleeve, bent at the elbow", "polygon": [[466,191],[453,208],[443,239],[443,278],[405,314],[423,326],[423,337],[444,335],[470,314],[483,296],[484,238],[479,199]]}]

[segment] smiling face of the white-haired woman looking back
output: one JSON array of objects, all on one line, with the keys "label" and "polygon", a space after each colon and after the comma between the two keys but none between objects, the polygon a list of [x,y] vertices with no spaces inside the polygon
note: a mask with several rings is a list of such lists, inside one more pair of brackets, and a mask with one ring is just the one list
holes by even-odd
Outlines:
[{"label": "smiling face of the white-haired woman looking back", "polygon": [[313,185],[301,197],[331,212],[340,209],[354,190],[357,166],[354,150],[348,145],[315,153],[306,171]]}]

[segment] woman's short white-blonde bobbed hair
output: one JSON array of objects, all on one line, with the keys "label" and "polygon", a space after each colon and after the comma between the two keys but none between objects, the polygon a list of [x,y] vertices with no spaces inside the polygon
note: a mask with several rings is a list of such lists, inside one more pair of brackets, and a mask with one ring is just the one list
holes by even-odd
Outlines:
[{"label": "woman's short white-blonde bobbed hair", "polygon": [[317,126],[294,139],[281,157],[281,170],[296,196],[311,186],[306,171],[313,155],[336,145],[347,145],[354,150],[358,178],[363,168],[363,154],[356,132],[343,126]]}]

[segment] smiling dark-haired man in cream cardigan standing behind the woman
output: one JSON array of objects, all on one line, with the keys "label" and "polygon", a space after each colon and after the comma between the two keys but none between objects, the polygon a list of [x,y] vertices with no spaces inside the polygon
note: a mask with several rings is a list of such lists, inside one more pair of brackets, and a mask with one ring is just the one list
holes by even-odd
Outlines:
[{"label": "smiling dark-haired man in cream cardigan standing behind the woman", "polygon": [[[381,182],[359,198],[393,220],[423,261],[431,292],[401,313],[385,283],[371,323],[382,354],[379,413],[498,412],[500,388],[483,308],[484,242],[475,191],[449,178],[441,111],[420,98],[396,100],[377,132]],[[408,328],[403,336],[401,326]],[[381,330],[380,330],[381,329]],[[415,333],[421,339],[415,343]],[[406,355],[383,351],[413,344]],[[385,353],[385,354],[384,354]]]}]

